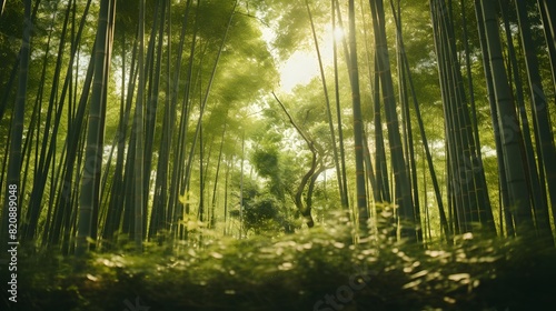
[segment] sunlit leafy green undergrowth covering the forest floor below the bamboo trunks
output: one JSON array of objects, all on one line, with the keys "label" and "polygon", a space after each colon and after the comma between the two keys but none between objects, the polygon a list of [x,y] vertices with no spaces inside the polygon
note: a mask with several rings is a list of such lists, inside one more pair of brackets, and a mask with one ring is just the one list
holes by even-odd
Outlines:
[{"label": "sunlit leafy green undergrowth covering the forest floor below the bamboo trunks", "polygon": [[[460,237],[454,247],[338,230],[276,239],[203,238],[172,254],[146,245],[86,260],[20,254],[17,303],[0,310],[554,310],[556,249]],[[9,277],[1,273],[2,293]]]}]

